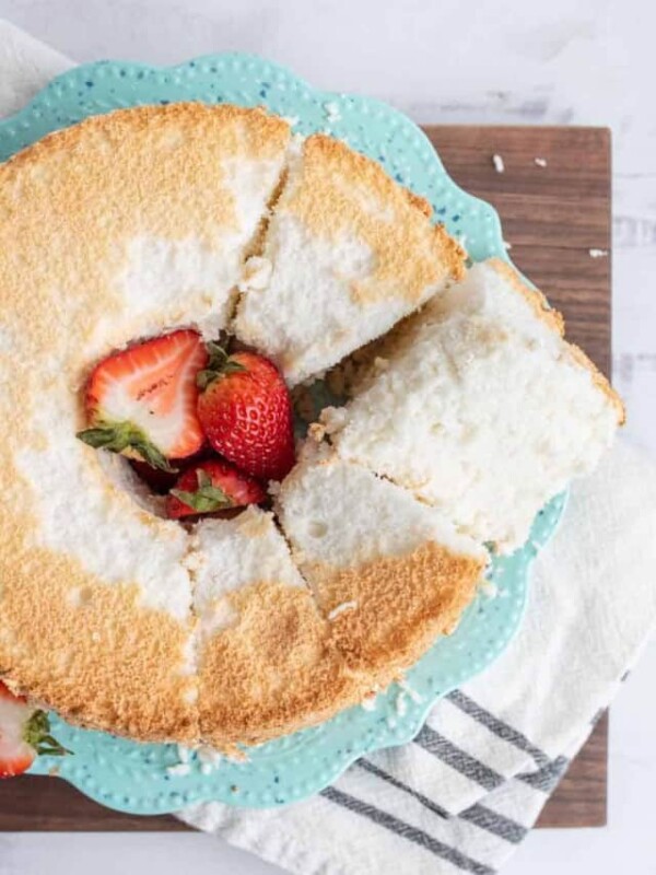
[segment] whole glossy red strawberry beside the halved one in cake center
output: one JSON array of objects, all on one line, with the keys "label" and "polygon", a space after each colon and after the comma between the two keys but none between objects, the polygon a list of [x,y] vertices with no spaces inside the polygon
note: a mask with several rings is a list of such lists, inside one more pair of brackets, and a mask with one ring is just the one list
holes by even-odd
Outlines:
[{"label": "whole glossy red strawberry beside the halved one in cake center", "polygon": [[198,374],[198,418],[218,453],[261,480],[282,480],[293,466],[292,401],[280,371],[263,355],[229,355],[209,343]]}]

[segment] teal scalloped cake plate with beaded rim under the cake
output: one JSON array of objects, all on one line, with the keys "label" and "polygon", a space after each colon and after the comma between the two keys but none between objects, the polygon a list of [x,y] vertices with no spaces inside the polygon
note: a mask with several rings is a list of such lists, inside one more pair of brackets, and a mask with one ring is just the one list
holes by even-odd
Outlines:
[{"label": "teal scalloped cake plate with beaded rim under the cake", "polygon": [[[316,91],[288,70],[248,55],[210,56],[168,69],[117,61],[78,67],[0,122],[0,159],[87,116],[176,101],[263,105],[286,116],[300,133],[320,130],[343,138],[426,197],[436,220],[466,241],[473,260],[507,260],[496,212],[455,185],[408,118],[367,97]],[[537,516],[520,550],[494,559],[488,586],[455,633],[440,639],[408,672],[409,689],[393,686],[372,710],[352,708],[313,730],[255,747],[244,762],[223,759],[209,768],[192,751],[184,768],[173,770],[180,761],[176,745],[138,744],[69,726],[52,714],[55,734],[74,756],[39,758],[32,773],[56,768],[103,805],[144,815],[210,800],[271,807],[317,793],[363,754],[411,740],[437,699],[499,656],[519,626],[531,561],[552,534],[563,504],[564,495],[559,495]]]}]

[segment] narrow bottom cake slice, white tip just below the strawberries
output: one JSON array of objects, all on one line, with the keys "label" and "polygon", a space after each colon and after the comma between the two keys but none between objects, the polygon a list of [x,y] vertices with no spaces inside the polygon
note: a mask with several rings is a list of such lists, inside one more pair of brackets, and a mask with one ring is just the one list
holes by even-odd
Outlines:
[{"label": "narrow bottom cake slice, white tip just below the strawberries", "polygon": [[371,689],[347,668],[271,514],[251,506],[200,523],[194,574],[208,743],[231,750],[285,735]]}]

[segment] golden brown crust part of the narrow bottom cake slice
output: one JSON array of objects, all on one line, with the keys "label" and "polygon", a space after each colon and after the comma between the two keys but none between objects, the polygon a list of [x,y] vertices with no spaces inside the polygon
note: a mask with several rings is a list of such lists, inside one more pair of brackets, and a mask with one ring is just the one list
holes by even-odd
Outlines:
[{"label": "golden brown crust part of the narrow bottom cake slice", "polygon": [[316,725],[361,701],[309,592],[259,583],[225,596],[231,625],[200,648],[200,727],[220,749]]}]

